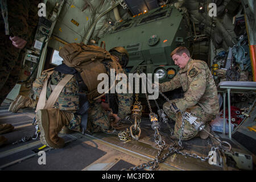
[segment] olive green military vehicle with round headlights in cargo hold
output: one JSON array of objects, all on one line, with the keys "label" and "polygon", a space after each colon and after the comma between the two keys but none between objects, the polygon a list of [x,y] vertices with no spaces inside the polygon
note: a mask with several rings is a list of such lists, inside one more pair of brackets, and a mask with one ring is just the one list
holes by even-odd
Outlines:
[{"label": "olive green military vehicle with round headlights in cargo hold", "polygon": [[126,72],[156,73],[160,82],[172,79],[178,68],[170,53],[177,46],[189,46],[183,12],[166,5],[145,11],[118,23],[99,40],[106,49],[122,46],[129,52]]}]

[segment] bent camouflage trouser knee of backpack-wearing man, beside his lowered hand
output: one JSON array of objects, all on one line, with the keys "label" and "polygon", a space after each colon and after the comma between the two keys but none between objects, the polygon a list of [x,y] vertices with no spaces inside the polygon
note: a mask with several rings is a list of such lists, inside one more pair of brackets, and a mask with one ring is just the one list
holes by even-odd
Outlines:
[{"label": "bent camouflage trouser knee of backpack-wearing man, beside his lowered hand", "polygon": [[108,115],[108,111],[102,109],[101,103],[94,102],[88,110],[88,130],[92,133],[109,130],[110,119]]}]

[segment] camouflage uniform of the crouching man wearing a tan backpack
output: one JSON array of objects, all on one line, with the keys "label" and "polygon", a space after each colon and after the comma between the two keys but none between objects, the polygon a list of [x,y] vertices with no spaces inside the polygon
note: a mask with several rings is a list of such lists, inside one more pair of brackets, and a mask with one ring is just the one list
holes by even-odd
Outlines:
[{"label": "camouflage uniform of the crouching man wearing a tan backpack", "polygon": [[[112,60],[102,61],[106,67],[107,72],[110,75],[110,69],[114,68]],[[123,73],[123,70],[119,69],[119,72]],[[59,81],[65,77],[65,74],[57,71],[53,72],[50,77],[50,82],[47,86],[47,98],[52,92],[51,85],[57,85]],[[38,79],[33,83],[33,91],[36,98],[39,98],[43,88],[45,79],[47,78],[47,71],[42,73]],[[125,118],[127,114],[131,113],[130,107],[133,104],[133,94],[117,94],[118,97],[118,116]],[[76,110],[79,109],[79,85],[76,78],[73,77],[67,85],[64,86],[57,99],[55,108],[60,110],[67,110],[72,113],[72,119],[69,122],[68,128],[75,131],[81,131],[81,115],[76,114]],[[105,131],[110,129],[110,119],[108,111],[102,109],[100,103],[93,102],[88,110],[88,130],[95,133],[98,131]]]}]

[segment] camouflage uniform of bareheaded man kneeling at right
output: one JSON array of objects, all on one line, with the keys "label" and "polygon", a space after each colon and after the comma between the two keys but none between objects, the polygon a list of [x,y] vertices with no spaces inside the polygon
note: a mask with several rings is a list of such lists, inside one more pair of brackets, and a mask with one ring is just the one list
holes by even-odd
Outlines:
[{"label": "camouflage uniform of bareheaded man kneeling at right", "polygon": [[[188,111],[201,119],[201,122],[209,122],[218,114],[220,106],[218,104],[217,88],[213,80],[207,63],[201,60],[189,60],[186,67],[181,69],[177,75],[168,82],[159,85],[162,92],[177,89],[184,90],[184,98],[172,100],[181,111]],[[163,105],[163,110],[168,117],[175,120],[175,136],[179,138],[181,133],[181,114],[175,114],[170,109],[170,103]],[[184,122],[183,140],[189,140],[197,135],[196,131],[188,121]]]}]

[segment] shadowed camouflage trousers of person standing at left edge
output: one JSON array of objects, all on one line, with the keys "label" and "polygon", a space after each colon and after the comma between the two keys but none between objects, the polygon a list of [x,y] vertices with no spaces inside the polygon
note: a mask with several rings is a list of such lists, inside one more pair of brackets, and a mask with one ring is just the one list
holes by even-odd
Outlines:
[{"label": "shadowed camouflage trousers of person standing at left edge", "polygon": [[22,55],[4,30],[0,30],[0,105],[19,80]]}]

